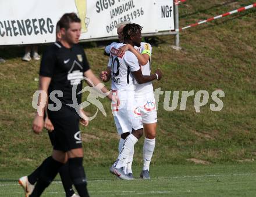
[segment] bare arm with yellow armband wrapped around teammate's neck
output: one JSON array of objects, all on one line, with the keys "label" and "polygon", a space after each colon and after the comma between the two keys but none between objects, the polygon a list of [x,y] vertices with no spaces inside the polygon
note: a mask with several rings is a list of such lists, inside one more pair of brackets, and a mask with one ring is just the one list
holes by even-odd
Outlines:
[{"label": "bare arm with yellow armband wrapped around teammate's neck", "polygon": [[120,49],[119,52],[117,54],[117,56],[123,56],[123,54],[125,54],[125,52],[127,50],[130,50],[131,53],[135,54],[135,56],[138,59],[138,63],[140,65],[145,65],[148,63],[148,60],[150,60],[150,56],[151,56],[151,52],[150,50],[145,50],[143,51],[143,53],[141,54],[140,52],[138,52],[138,50],[136,50],[133,46],[131,46],[130,44],[127,45],[123,45]]}]

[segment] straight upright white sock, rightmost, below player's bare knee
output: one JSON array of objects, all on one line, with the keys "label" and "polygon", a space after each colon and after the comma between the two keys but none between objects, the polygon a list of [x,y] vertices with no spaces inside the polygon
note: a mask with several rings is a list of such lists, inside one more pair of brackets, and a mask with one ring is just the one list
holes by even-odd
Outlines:
[{"label": "straight upright white sock, rightmost, below player's bare knee", "polygon": [[145,138],[143,145],[143,170],[150,170],[150,162],[155,149],[155,138]]}]

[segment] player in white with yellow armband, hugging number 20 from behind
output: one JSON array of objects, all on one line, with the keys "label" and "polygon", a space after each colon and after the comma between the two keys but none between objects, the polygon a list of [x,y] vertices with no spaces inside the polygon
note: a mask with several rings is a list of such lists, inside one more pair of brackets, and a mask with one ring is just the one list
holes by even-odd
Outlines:
[{"label": "player in white with yellow armband, hugging number 20 from behind", "polygon": [[[118,55],[123,55],[126,50],[133,52],[141,65],[143,75],[151,73],[151,54],[152,47],[149,43],[141,42],[140,48],[131,45],[125,45],[120,48]],[[135,99],[137,108],[134,112],[140,115],[144,127],[144,147],[143,147],[143,170],[140,177],[150,179],[150,162],[155,148],[155,135],[157,130],[157,109],[155,105],[154,90],[151,82],[138,84],[135,83]],[[131,162],[133,160],[133,152],[131,152],[127,161],[127,172],[131,171]]]}]

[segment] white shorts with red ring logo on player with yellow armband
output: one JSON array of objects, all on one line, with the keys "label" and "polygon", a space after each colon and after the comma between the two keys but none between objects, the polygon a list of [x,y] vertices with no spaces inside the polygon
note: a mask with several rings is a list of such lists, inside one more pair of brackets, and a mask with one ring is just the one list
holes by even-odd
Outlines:
[{"label": "white shorts with red ring logo on player with yellow armband", "polygon": [[145,124],[157,122],[157,107],[155,104],[154,92],[145,94],[136,94],[136,108],[134,113],[141,116],[142,122]]}]

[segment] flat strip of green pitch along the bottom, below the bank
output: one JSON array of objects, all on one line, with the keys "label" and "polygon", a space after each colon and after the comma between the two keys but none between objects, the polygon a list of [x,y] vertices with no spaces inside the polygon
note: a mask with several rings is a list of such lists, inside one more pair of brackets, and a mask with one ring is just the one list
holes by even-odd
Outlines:
[{"label": "flat strip of green pitch along the bottom, below the bank", "polygon": [[[31,170],[31,169],[30,169]],[[17,178],[28,169],[1,169],[0,196],[23,196]],[[108,167],[86,167],[91,196],[255,196],[255,165],[162,165],[151,167],[151,180],[119,180]],[[59,177],[42,196],[64,196]]]}]

